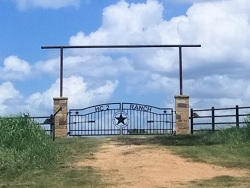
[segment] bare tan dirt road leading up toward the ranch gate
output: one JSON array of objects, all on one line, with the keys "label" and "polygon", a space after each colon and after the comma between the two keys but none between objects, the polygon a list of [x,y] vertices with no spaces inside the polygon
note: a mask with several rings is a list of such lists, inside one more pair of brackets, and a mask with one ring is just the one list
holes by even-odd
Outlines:
[{"label": "bare tan dirt road leading up toward the ranch gate", "polygon": [[190,181],[217,176],[242,177],[248,171],[187,161],[166,147],[119,145],[108,142],[96,154],[96,160],[78,162],[103,172],[111,188],[185,187]]}]

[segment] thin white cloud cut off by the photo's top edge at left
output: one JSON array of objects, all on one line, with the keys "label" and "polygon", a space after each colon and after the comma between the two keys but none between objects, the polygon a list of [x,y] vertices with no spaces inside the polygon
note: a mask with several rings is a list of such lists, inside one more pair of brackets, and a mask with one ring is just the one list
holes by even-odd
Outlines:
[{"label": "thin white cloud cut off by the photo's top edge at left", "polygon": [[11,0],[17,4],[18,9],[25,10],[28,8],[52,8],[73,6],[78,8],[80,0]]}]

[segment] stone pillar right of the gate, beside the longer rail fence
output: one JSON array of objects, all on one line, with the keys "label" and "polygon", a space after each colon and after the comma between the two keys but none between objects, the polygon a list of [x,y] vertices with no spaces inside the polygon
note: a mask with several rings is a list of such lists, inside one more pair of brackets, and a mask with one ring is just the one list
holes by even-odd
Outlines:
[{"label": "stone pillar right of the gate, beside the longer rail fence", "polygon": [[176,134],[189,134],[189,96],[175,96]]}]

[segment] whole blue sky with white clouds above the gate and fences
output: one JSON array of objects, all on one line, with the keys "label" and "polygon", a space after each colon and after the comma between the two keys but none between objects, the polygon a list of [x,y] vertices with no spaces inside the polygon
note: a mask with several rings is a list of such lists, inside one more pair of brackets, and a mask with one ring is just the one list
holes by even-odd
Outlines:
[{"label": "whole blue sky with white clouds above the gate and fences", "polygon": [[[183,49],[194,108],[249,106],[248,0],[0,0],[0,114],[52,112],[59,51],[44,45],[201,44]],[[69,108],[174,107],[176,49],[65,50]]]}]

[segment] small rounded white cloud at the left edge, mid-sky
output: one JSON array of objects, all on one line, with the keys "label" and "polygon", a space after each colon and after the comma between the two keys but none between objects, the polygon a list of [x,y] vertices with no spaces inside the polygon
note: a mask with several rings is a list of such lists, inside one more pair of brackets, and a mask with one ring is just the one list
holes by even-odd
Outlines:
[{"label": "small rounded white cloud at the left edge, mid-sky", "polygon": [[3,80],[24,80],[31,74],[31,66],[17,56],[9,56],[0,67],[0,78]]}]

